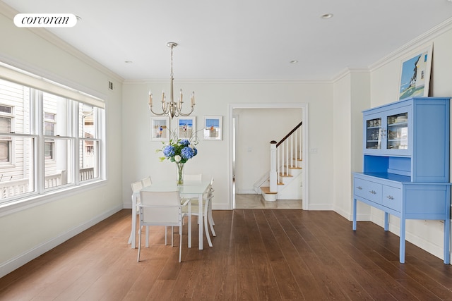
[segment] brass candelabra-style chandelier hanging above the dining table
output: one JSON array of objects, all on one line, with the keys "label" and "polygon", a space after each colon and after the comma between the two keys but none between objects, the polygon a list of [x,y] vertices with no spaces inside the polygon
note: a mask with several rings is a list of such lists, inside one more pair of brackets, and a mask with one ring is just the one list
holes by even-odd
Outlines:
[{"label": "brass candelabra-style chandelier hanging above the dining table", "polygon": [[167,42],[167,47],[171,48],[171,81],[170,81],[170,86],[171,86],[171,91],[169,94],[169,102],[167,102],[166,100],[166,96],[165,96],[165,92],[162,92],[162,113],[155,113],[155,111],[153,111],[153,94],[152,92],[149,91],[149,109],[150,111],[157,116],[169,116],[171,117],[171,119],[176,116],[189,116],[194,108],[195,108],[195,92],[191,93],[191,111],[189,111],[189,113],[182,113],[182,104],[184,104],[184,102],[182,102],[182,89],[180,90],[180,97],[179,100],[177,102],[174,102],[174,92],[173,92],[173,73],[172,73],[172,49],[174,49],[174,47],[177,46],[177,43],[174,42]]}]

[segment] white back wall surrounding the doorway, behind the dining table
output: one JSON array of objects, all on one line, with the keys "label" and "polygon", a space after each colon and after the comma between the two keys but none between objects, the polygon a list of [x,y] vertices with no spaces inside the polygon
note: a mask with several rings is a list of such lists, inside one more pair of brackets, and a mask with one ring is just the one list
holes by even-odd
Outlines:
[{"label": "white back wall surrounding the doorway, behind the dining table", "polygon": [[[311,209],[332,209],[333,190],[324,189],[331,183],[333,166],[333,86],[330,82],[228,82],[174,80],[176,90],[182,88],[187,95],[196,93],[198,128],[205,115],[223,116],[223,140],[203,141],[198,144],[198,156],[185,164],[187,173],[203,173],[215,178],[214,209],[232,209],[232,195],[228,186],[230,171],[229,104],[309,104],[309,145],[317,152],[309,159],[309,206]],[[160,162],[155,149],[161,142],[150,141],[148,90],[169,92],[167,82],[125,82],[123,87],[123,200],[130,207],[130,183],[146,175],[171,180],[176,166],[169,161]],[[155,93],[157,94],[157,93]],[[257,178],[262,176],[256,174]]]}]

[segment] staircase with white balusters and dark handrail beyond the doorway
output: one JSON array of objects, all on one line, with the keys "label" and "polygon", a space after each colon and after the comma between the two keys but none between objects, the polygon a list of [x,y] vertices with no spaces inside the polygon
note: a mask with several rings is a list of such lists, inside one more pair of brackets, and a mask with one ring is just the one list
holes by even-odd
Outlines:
[{"label": "staircase with white balusters and dark handrail beyond the doorway", "polygon": [[266,201],[302,199],[302,124],[280,142],[270,142],[270,171],[259,180],[258,190]]}]

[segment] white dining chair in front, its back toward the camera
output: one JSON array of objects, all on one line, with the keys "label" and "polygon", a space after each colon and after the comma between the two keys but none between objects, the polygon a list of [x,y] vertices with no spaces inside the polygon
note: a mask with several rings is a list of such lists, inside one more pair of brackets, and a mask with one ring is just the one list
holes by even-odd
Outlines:
[{"label": "white dining chair in front, its back toward the camera", "polygon": [[[140,227],[138,231],[138,257],[141,253],[141,228],[143,226],[177,226],[179,227],[179,262],[182,262],[182,207],[186,207],[190,200],[181,204],[179,191],[169,192],[140,192],[139,205]],[[189,231],[191,229],[189,228]],[[172,241],[174,233],[171,233]],[[173,244],[172,244],[173,246]]]}]

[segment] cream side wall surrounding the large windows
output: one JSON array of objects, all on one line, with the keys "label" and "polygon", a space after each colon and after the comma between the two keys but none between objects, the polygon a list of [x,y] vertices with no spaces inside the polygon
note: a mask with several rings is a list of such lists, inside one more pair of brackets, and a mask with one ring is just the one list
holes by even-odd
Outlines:
[{"label": "cream side wall surrounding the large windows", "polygon": [[[107,181],[70,195],[42,197],[42,204],[8,211],[0,208],[0,277],[122,208],[121,78],[89,59],[76,59],[52,35],[13,25],[0,2],[0,61],[25,68],[83,92],[105,96]],[[44,38],[45,37],[45,38]],[[77,54],[81,55],[81,54]],[[82,55],[81,55],[82,56]],[[111,80],[117,90],[109,91]]]}]

